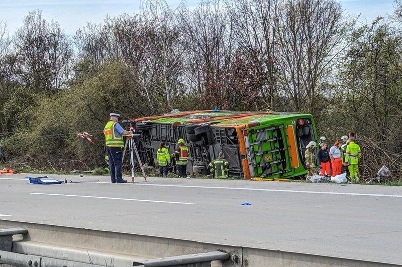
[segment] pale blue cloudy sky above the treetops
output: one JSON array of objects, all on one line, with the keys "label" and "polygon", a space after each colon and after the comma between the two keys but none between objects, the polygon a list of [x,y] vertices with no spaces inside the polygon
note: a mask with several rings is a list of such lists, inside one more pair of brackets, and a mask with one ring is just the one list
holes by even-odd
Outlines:
[{"label": "pale blue cloudy sky above the treetops", "polygon": [[[342,7],[353,15],[361,13],[360,20],[371,22],[377,16],[393,12],[393,0],[338,0]],[[179,0],[166,1],[172,8],[179,5]],[[194,7],[198,0],[186,1]],[[102,23],[107,14],[118,16],[123,13],[133,14],[139,11],[140,0],[0,0],[0,21],[8,24],[12,35],[29,11],[42,10],[42,17],[47,21],[58,21],[61,28],[73,35],[86,22]]]}]

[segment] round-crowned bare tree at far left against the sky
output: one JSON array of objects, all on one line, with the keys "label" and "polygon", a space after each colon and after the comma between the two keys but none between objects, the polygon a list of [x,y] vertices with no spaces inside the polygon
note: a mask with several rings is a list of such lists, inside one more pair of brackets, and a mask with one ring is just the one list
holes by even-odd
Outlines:
[{"label": "round-crowned bare tree at far left against the sky", "polygon": [[14,45],[21,79],[35,92],[55,93],[66,87],[71,71],[72,49],[58,23],[48,24],[42,12],[33,11],[18,28]]}]

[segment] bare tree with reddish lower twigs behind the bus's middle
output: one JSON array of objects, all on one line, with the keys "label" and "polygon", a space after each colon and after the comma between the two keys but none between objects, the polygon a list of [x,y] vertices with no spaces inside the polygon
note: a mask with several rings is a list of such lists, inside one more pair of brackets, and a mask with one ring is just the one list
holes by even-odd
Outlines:
[{"label": "bare tree with reddish lower twigs behind the bus's middle", "polygon": [[233,24],[220,2],[202,2],[183,14],[188,83],[206,106],[225,107],[225,72],[233,63]]}]

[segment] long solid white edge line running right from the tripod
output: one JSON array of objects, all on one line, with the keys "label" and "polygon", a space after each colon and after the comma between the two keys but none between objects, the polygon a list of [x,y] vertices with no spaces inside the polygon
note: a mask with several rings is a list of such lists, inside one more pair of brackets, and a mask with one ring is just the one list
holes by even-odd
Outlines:
[{"label": "long solid white edge line running right from the tripod", "polygon": [[288,193],[309,193],[309,194],[326,194],[326,195],[369,196],[369,197],[402,197],[402,195],[365,194],[365,193],[344,193],[344,192],[324,192],[324,191],[303,191],[303,190],[283,190],[283,189],[263,189],[263,188],[241,188],[241,187],[192,186],[192,185],[161,185],[161,184],[135,184],[135,183],[134,183],[134,184],[131,184],[131,185],[166,186],[166,187],[183,187],[183,188],[229,189],[229,190],[268,191],[268,192],[288,192]]}]

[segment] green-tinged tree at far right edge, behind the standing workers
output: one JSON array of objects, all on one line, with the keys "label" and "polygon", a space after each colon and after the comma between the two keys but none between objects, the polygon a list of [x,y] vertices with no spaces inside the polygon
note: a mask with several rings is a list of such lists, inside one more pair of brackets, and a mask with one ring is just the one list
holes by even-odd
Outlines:
[{"label": "green-tinged tree at far right edge, behind the standing workers", "polygon": [[[402,36],[380,20],[356,29],[345,59],[343,117],[363,147],[363,176],[383,165],[402,175]],[[356,125],[360,127],[356,128]]]}]

